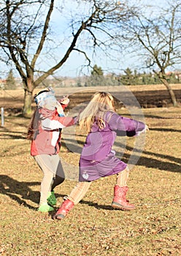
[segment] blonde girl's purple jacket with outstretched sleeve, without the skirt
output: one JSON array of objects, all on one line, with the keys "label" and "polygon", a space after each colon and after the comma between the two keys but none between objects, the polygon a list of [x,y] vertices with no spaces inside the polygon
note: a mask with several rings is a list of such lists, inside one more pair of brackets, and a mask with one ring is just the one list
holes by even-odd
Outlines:
[{"label": "blonde girl's purple jacket with outstretched sleeve, without the skirt", "polygon": [[108,111],[105,116],[105,127],[99,129],[96,120],[88,134],[85,145],[82,148],[81,160],[90,162],[105,159],[112,150],[117,133],[121,135],[134,136],[145,129],[145,124],[131,118],[119,116],[115,112]]}]

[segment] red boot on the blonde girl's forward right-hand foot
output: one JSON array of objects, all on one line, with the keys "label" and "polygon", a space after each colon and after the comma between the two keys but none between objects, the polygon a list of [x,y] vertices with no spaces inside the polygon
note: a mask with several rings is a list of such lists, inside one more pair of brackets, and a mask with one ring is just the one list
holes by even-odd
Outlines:
[{"label": "red boot on the blonde girl's forward right-hand foot", "polygon": [[114,187],[114,198],[112,200],[112,207],[119,208],[123,211],[134,210],[135,206],[126,200],[126,193],[128,192],[128,187],[119,187],[116,185]]}]

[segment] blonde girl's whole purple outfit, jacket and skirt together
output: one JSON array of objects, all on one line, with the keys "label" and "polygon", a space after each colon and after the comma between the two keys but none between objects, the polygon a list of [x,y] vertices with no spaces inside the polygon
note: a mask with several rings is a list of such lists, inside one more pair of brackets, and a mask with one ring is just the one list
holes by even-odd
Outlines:
[{"label": "blonde girl's whole purple outfit, jacket and skirt together", "polygon": [[126,163],[112,154],[117,133],[131,137],[144,131],[145,124],[141,121],[111,111],[105,115],[104,129],[99,129],[95,119],[80,156],[80,181],[93,181],[124,170]]}]

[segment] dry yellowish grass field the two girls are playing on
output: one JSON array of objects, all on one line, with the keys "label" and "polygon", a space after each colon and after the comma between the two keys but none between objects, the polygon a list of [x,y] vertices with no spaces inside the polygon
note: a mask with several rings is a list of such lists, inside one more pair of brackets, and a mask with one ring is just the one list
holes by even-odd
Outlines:
[{"label": "dry yellowish grass field the two girls are playing on", "polygon": [[[26,140],[29,119],[6,113],[0,127],[0,255],[181,255],[180,108],[142,111],[150,131],[128,182],[128,199],[136,209],[112,209],[111,176],[93,182],[63,221],[36,211],[42,173]],[[81,145],[85,137],[77,132]],[[123,159],[128,161],[134,138],[126,143]],[[76,166],[80,155],[67,151],[63,143],[60,156]],[[55,189],[57,207],[75,184],[67,179]]]}]

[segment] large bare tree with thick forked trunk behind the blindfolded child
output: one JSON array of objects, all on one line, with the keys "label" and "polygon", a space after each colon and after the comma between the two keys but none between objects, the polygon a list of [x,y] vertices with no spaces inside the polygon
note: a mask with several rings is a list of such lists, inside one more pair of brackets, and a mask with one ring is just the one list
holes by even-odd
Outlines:
[{"label": "large bare tree with thick forked trunk behind the blindfolded child", "polygon": [[[130,15],[125,5],[117,4],[115,0],[74,0],[74,4],[79,7],[74,8],[74,10],[81,10],[82,4],[87,8],[87,11],[81,12],[81,15],[72,14],[72,20],[69,21],[69,28],[72,31],[70,31],[69,39],[66,41],[66,49],[63,52],[60,43],[53,42],[55,34],[51,30],[51,18],[54,10],[58,10],[58,8],[61,12],[63,10],[65,13],[69,12],[66,6],[67,2],[69,1],[6,0],[0,4],[1,61],[15,64],[15,68],[23,80],[24,115],[31,113],[34,89],[49,75],[53,75],[56,70],[62,67],[72,51],[78,51],[85,56],[87,64],[90,65],[91,59],[88,55],[90,51],[87,53],[86,46],[83,47],[81,42],[87,42],[91,47],[91,53],[96,48],[100,48],[104,53],[109,54],[107,49],[110,50],[116,38],[117,17],[121,16],[120,20],[124,20],[128,19]],[[57,4],[60,6],[58,7]],[[60,48],[57,55],[58,47]],[[53,56],[53,50],[56,52],[56,56],[55,54]],[[52,55],[50,56],[51,52]],[[52,67],[41,70],[39,62],[44,61],[45,58],[49,58],[50,63],[51,60],[54,62]]]}]

